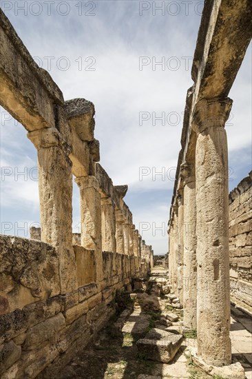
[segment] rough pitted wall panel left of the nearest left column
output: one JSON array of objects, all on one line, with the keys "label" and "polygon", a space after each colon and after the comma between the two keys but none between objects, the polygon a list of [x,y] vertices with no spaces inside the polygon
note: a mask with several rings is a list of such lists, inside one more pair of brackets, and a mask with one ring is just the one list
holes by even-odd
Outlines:
[{"label": "rough pitted wall panel left of the nearest left column", "polygon": [[39,240],[0,236],[0,314],[60,293],[59,255]]}]

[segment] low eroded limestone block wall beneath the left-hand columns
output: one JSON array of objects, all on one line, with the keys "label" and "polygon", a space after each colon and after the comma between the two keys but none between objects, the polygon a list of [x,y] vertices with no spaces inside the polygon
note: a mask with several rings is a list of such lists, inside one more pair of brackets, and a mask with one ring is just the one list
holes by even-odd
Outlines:
[{"label": "low eroded limestone block wall beneath the left-hand columns", "polygon": [[[52,377],[114,313],[117,290],[141,272],[141,258],[103,252],[94,283],[94,252],[75,245],[78,289],[60,294],[59,256],[49,244],[0,237],[0,376]],[[45,370],[45,371],[43,371]],[[43,371],[43,373],[41,373]],[[40,374],[41,373],[41,374]]]}]

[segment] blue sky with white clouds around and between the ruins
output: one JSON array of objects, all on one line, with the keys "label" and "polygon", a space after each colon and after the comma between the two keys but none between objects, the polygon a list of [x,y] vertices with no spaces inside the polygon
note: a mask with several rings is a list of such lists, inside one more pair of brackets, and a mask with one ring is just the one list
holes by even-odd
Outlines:
[{"label": "blue sky with white clouds around and between the ruins", "polygon": [[[166,225],[202,5],[195,0],[1,1],[64,99],[94,103],[101,165],[114,185],[129,185],[125,202],[155,254],[167,252]],[[251,170],[251,80],[250,45],[230,93],[230,189]],[[39,224],[36,150],[3,108],[1,166],[1,233],[28,236],[28,227]],[[73,212],[78,232],[75,183]]]}]

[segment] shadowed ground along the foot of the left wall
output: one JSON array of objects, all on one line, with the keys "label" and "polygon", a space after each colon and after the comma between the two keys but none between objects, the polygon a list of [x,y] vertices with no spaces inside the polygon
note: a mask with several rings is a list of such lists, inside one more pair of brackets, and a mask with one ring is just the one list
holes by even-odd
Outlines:
[{"label": "shadowed ground along the foot of the left wall", "polygon": [[[139,292],[139,297],[143,296],[142,300],[136,300]],[[123,313],[112,318],[95,340],[78,352],[78,356],[59,372],[58,379],[189,378],[187,359],[182,354],[185,345],[180,347],[172,365],[147,360],[144,354],[138,352],[136,341],[155,327],[155,322],[165,308],[163,306],[161,309],[160,298],[153,291],[151,296],[141,293],[143,291],[134,291],[117,298],[120,311],[124,308]],[[120,322],[122,325],[118,327]],[[174,367],[174,363],[182,366],[181,372]]]}]

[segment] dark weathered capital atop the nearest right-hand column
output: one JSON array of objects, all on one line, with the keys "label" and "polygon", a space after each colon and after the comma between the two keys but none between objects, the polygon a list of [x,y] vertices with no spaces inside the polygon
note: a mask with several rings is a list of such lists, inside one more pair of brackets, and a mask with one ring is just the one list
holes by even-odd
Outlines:
[{"label": "dark weathered capital atop the nearest right-hand column", "polygon": [[213,99],[201,99],[196,103],[196,107],[192,116],[192,129],[197,133],[202,133],[209,127],[224,127],[233,100],[226,97],[220,99],[219,97]]}]

